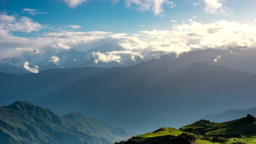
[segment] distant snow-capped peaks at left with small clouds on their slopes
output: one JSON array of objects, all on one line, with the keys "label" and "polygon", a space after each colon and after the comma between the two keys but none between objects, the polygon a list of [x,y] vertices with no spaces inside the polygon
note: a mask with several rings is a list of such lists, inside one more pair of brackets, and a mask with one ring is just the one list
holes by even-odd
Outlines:
[{"label": "distant snow-capped peaks at left with small clouds on their slopes", "polygon": [[[118,44],[107,44],[91,48],[87,52],[78,52],[71,48],[68,50],[51,49],[44,54],[36,52],[24,52],[18,57],[7,57],[0,60],[0,71],[7,72],[10,66],[24,71],[24,62],[29,67],[38,67],[38,71],[49,68],[72,68],[72,67],[128,67],[143,61],[139,52],[124,48]],[[8,65],[8,67],[6,66]],[[12,74],[17,74],[13,73]],[[19,73],[20,74],[20,73]]]}]

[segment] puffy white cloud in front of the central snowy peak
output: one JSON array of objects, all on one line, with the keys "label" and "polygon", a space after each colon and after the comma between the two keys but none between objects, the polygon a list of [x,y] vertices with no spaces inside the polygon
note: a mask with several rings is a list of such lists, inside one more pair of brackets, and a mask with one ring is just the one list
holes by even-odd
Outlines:
[{"label": "puffy white cloud in front of the central snowy peak", "polygon": [[94,57],[94,63],[98,64],[98,62],[112,62],[112,61],[116,61],[116,62],[121,62],[121,57],[115,54],[104,54],[101,52],[92,52],[92,55]]}]

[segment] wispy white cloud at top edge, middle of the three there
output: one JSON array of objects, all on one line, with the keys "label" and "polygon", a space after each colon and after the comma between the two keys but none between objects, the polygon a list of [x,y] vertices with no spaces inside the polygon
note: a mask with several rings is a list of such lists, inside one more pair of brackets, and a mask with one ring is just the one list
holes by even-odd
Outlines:
[{"label": "wispy white cloud at top edge, middle of the three there", "polygon": [[126,7],[134,4],[140,11],[153,10],[155,15],[164,12],[164,9],[162,8],[164,4],[167,4],[170,8],[176,6],[173,1],[169,0],[125,0],[125,3]]}]

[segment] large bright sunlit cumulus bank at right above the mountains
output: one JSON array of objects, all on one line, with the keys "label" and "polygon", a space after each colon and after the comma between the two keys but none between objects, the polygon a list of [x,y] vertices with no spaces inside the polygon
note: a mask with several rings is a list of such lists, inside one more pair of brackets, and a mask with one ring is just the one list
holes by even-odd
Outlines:
[{"label": "large bright sunlit cumulus bank at right above the mountains", "polygon": [[184,52],[198,49],[226,49],[246,46],[255,48],[256,26],[219,20],[210,24],[190,21],[174,25],[171,31],[141,31],[151,51]]}]

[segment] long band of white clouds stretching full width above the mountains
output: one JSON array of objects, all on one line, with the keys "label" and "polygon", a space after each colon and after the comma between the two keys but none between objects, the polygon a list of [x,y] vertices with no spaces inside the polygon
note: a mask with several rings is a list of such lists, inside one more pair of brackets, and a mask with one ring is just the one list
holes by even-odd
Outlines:
[{"label": "long band of white clouds stretching full width above the mountains", "polygon": [[[121,55],[124,53],[131,55],[130,59],[134,60],[134,56],[150,59],[159,58],[169,52],[181,53],[240,46],[253,49],[256,45],[255,23],[218,20],[202,24],[194,19],[188,19],[182,24],[173,23],[170,20],[170,24],[173,24],[173,27],[169,30],[144,30],[135,34],[50,30],[38,37],[24,38],[13,36],[12,31],[31,33],[40,31],[43,26],[26,17],[0,15],[0,57],[16,56],[24,51],[35,49],[38,53],[71,48],[86,52],[91,48],[113,43],[127,50],[103,50],[104,53],[94,51],[95,62],[121,62]],[[54,62],[54,59],[51,61]]]}]

